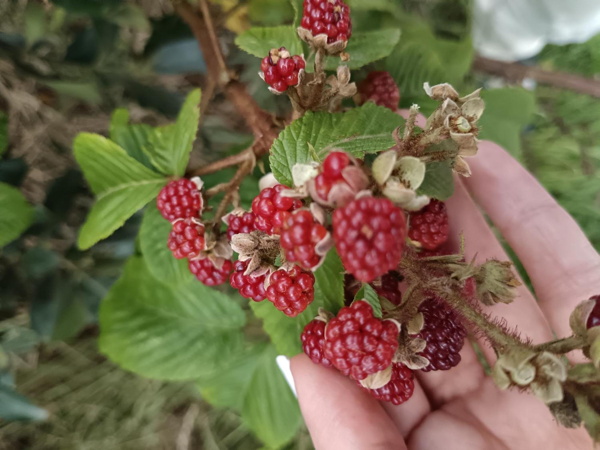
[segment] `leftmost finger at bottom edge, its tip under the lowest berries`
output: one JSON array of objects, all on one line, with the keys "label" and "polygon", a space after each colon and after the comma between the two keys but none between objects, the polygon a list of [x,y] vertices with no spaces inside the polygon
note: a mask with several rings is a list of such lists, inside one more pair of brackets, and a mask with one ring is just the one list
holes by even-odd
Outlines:
[{"label": "leftmost finger at bottom edge, its tip under the lowest berries", "polygon": [[[292,358],[291,368],[302,415],[317,450],[406,449],[398,424],[414,420],[411,410],[406,409],[406,414],[394,411],[392,418],[356,382],[313,364],[306,355]],[[421,395],[413,402],[417,411],[427,404]]]}]

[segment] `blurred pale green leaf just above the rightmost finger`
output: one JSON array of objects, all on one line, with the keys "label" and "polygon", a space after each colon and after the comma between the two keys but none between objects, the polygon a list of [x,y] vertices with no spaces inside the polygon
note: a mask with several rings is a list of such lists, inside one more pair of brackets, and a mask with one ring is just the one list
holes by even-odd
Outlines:
[{"label": "blurred pale green leaf just above the rightmost finger", "polygon": [[[479,139],[488,139],[520,156],[521,130],[535,112],[533,92],[523,88],[501,88],[481,91],[485,111],[479,119]],[[468,161],[467,161],[468,162]]]}]

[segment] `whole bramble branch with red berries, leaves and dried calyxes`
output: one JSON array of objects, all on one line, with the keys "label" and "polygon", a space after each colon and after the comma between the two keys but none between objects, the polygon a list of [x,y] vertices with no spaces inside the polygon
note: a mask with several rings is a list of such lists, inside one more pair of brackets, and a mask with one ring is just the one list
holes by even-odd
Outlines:
[{"label": "whole bramble branch with red berries, leaves and dried calyxes", "polygon": [[[574,311],[571,337],[533,344],[481,308],[514,301],[520,281],[511,263],[466,260],[469,236],[457,252],[449,246],[444,200],[452,194],[453,174],[469,176],[466,158],[478,151],[479,89],[461,96],[449,84],[425,83],[436,109],[422,128],[416,105],[403,121],[396,113],[400,92],[388,73],[372,72],[358,88],[350,81],[350,8],[341,0],[305,0],[292,29],[299,38],[287,48],[305,46],[308,57],[278,41],[260,53],[266,89],[290,100],[289,116],[280,121],[261,110],[225,66],[205,0],[199,10],[185,2],[175,8],[254,143],[186,171],[199,93],[190,94],[176,124],[149,139],[144,153],[152,168],[103,137],[78,138],[76,157],[98,194],[98,209],[82,229],[85,242],[106,238],[157,196],[173,257],[187,262],[205,286],[229,281],[250,300],[281,353],[304,350],[374,397],[400,404],[412,395],[414,371],[450,370],[460,364],[470,335],[485,337],[497,355],[491,376],[500,389],[529,390],[561,424],[583,420],[598,439],[590,420],[600,398],[600,298]],[[272,173],[244,209],[240,185],[267,153]],[[109,154],[116,162],[107,179],[97,162]],[[164,163],[169,157],[174,164]],[[211,188],[200,178],[233,166],[233,178]],[[128,197],[135,202],[113,200],[120,189],[135,189],[137,196]],[[206,205],[219,193],[224,197],[208,218]],[[179,270],[160,253],[164,244],[154,250],[152,227],[146,228],[140,247],[149,268],[158,277],[165,267]],[[182,277],[176,272],[174,278]],[[590,362],[562,358],[572,350],[583,350]]]}]

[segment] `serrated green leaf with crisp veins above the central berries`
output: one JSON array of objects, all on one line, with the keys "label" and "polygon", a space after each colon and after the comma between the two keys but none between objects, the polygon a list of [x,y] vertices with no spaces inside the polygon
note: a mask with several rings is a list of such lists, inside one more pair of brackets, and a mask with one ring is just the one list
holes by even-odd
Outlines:
[{"label": "serrated green leaf with crisp veins above the central berries", "polygon": [[271,147],[271,170],[281,184],[292,185],[292,167],[308,163],[308,144],[320,159],[338,147],[362,158],[394,145],[392,131],[404,121],[389,109],[367,102],[343,113],[307,112],[284,128]]}]

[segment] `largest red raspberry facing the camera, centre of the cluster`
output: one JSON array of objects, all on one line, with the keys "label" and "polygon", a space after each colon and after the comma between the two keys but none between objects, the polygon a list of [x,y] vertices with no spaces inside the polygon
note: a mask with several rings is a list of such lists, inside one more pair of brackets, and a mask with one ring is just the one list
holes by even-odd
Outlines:
[{"label": "largest red raspberry facing the camera, centre of the cluster", "polygon": [[406,219],[388,199],[362,197],[336,209],[333,227],[344,268],[357,280],[370,283],[400,262]]}]

